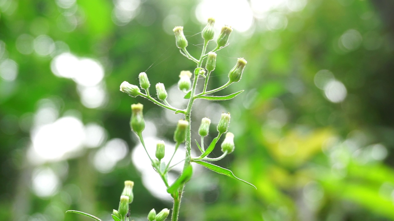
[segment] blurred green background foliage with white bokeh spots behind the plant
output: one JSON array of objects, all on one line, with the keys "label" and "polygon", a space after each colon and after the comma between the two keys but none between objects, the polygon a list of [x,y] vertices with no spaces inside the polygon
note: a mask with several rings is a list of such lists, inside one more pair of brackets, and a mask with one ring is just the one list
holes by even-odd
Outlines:
[{"label": "blurred green background foliage with white bokeh spots behind the plant", "polygon": [[218,94],[245,92],[197,102],[192,127],[210,117],[208,142],[230,112],[236,149],[217,164],[257,190],[196,166],[181,220],[394,220],[393,8],[391,0],[0,0],[0,219],[86,220],[65,214],[75,209],[110,220],[124,180],[135,182],[135,221],[171,208],[141,162],[130,104],[145,105],[152,149],[159,139],[171,144],[180,116],[119,85],[138,85],[145,71],[182,107],[178,75],[194,63],[172,29],[184,26],[197,57],[199,32],[214,17],[218,31],[234,31],[209,87],[245,57],[242,80]]}]

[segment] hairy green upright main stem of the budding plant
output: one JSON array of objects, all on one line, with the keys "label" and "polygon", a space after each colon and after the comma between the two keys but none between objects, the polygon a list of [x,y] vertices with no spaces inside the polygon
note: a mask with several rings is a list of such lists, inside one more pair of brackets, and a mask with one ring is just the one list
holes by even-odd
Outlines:
[{"label": "hairy green upright main stem of the budding plant", "polygon": [[[203,51],[201,52],[201,56],[197,64],[197,68],[201,68],[203,64],[203,59],[204,59],[204,54],[206,51],[207,44],[208,41],[204,41]],[[194,72],[193,86],[191,86],[190,99],[185,114],[185,120],[189,122],[189,127],[186,130],[186,156],[185,156],[185,164],[183,166],[182,173],[184,173],[185,169],[188,168],[191,162],[191,107],[193,106],[193,102],[195,100],[195,92],[197,88],[198,76],[199,76],[198,73]],[[174,205],[173,205],[173,212],[171,215],[171,221],[178,221],[180,200],[182,199],[182,193],[184,187],[185,185],[182,185],[178,190],[178,195],[174,196]]]}]

